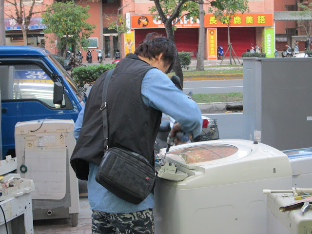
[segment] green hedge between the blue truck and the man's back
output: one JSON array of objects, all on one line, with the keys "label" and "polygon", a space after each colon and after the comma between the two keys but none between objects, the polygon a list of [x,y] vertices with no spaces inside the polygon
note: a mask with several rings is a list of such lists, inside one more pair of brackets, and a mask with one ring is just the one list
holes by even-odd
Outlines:
[{"label": "green hedge between the blue truck and the man's back", "polygon": [[92,85],[96,79],[109,69],[116,67],[115,64],[99,64],[91,66],[75,67],[72,70],[72,78],[82,91],[86,91],[86,85]]}]

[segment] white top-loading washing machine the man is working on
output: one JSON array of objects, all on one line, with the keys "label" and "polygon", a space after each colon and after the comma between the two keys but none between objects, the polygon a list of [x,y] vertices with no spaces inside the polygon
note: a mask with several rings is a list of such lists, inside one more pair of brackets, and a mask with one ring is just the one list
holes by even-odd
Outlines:
[{"label": "white top-loading washing machine the man is working on", "polygon": [[258,142],[184,144],[164,161],[156,165],[156,234],[265,234],[262,190],[292,187],[288,157]]}]

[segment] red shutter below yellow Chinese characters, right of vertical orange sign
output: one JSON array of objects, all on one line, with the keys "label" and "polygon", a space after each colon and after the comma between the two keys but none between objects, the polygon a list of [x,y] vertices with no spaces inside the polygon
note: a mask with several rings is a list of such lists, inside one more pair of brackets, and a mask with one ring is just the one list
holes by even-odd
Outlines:
[{"label": "red shutter below yellow Chinese characters, right of vertical orange sign", "polygon": [[[230,28],[230,39],[237,57],[240,57],[247,49],[251,49],[251,44],[255,46],[255,27]],[[225,54],[228,49],[228,28],[217,28],[217,41]],[[261,48],[261,45],[258,46]],[[229,52],[225,56],[229,57]]]}]

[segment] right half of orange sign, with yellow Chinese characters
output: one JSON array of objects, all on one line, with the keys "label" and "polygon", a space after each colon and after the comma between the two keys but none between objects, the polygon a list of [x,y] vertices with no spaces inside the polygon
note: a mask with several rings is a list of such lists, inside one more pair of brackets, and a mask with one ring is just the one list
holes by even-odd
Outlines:
[{"label": "right half of orange sign, with yellow Chinese characters", "polygon": [[[235,14],[231,19],[231,27],[268,27],[273,26],[272,13]],[[213,14],[205,15],[205,27],[227,27],[226,23],[216,20]]]}]

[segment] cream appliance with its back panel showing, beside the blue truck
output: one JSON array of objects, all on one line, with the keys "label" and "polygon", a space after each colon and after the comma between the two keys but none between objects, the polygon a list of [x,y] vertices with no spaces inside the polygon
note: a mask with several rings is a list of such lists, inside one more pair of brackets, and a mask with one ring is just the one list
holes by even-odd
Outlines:
[{"label": "cream appliance with its back panel showing, beside the blue truck", "polygon": [[41,119],[15,126],[17,173],[34,181],[33,218],[71,218],[78,225],[78,179],[70,166],[76,145],[72,119]]}]

